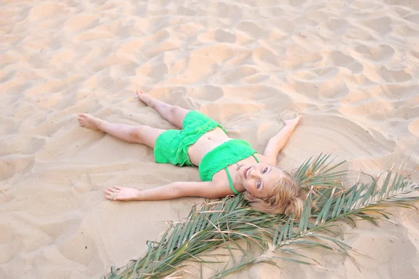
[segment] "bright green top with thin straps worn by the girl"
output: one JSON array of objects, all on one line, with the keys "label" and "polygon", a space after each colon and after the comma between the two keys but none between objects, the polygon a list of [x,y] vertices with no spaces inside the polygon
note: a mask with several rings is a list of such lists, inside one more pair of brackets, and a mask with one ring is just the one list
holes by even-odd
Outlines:
[{"label": "bright green top with thin straps worn by the girl", "polygon": [[202,181],[212,181],[212,176],[214,176],[216,172],[219,172],[221,169],[226,169],[231,190],[237,195],[239,193],[233,187],[233,181],[231,180],[227,166],[233,165],[249,156],[253,156],[256,162],[259,163],[258,158],[254,155],[255,153],[257,152],[244,140],[235,139],[224,142],[205,154],[203,160],[201,160],[199,164],[200,179]]}]

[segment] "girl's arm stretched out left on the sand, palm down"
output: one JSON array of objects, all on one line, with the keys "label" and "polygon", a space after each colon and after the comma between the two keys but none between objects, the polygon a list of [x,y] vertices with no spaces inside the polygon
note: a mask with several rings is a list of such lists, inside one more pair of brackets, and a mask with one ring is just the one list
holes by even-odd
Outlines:
[{"label": "girl's arm stretched out left on the sand, palm down", "polygon": [[207,197],[216,199],[230,195],[227,187],[220,187],[214,181],[179,181],[147,190],[113,186],[105,190],[105,193],[107,194],[105,198],[114,201],[153,201],[175,199],[177,197]]}]

